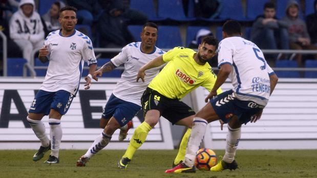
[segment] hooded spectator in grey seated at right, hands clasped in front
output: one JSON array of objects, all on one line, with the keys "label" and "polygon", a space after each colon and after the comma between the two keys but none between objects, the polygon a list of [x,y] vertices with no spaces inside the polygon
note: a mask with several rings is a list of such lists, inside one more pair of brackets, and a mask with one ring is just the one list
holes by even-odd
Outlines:
[{"label": "hooded spectator in grey seated at right, hands clasped in front", "polygon": [[[299,18],[299,4],[296,0],[290,0],[286,7],[286,16],[283,18],[288,23],[289,47],[290,49],[317,49],[317,46],[310,43],[304,20]],[[317,55],[315,55],[317,59]],[[296,60],[302,66],[302,55],[297,54]]]}]

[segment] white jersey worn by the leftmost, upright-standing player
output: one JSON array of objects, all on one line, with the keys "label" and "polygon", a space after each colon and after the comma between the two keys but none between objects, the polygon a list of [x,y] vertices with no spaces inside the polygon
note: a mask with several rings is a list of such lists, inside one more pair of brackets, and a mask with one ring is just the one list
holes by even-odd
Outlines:
[{"label": "white jersey worn by the leftmost, upright-standing player", "polygon": [[68,37],[56,30],[47,36],[44,44],[50,52],[49,67],[40,90],[66,90],[76,94],[84,61],[88,65],[97,63],[91,40],[77,30]]}]

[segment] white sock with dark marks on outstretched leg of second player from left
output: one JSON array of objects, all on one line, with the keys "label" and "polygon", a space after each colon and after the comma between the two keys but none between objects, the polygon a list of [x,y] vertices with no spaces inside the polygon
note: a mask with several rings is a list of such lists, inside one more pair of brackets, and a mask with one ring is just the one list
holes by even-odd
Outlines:
[{"label": "white sock with dark marks on outstretched leg of second player from left", "polygon": [[102,132],[102,134],[100,134],[95,139],[94,143],[87,150],[86,154],[84,154],[84,157],[92,158],[93,156],[95,156],[95,154],[97,154],[98,151],[107,146],[110,140],[111,136]]}]

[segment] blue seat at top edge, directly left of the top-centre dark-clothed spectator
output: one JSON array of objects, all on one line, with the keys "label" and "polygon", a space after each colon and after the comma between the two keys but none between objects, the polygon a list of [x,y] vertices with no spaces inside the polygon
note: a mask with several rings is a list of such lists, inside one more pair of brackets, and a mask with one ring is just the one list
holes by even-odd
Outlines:
[{"label": "blue seat at top edge, directly left of the top-centre dark-clothed spectator", "polygon": [[177,21],[193,21],[196,19],[185,16],[181,0],[158,0],[158,17]]}]

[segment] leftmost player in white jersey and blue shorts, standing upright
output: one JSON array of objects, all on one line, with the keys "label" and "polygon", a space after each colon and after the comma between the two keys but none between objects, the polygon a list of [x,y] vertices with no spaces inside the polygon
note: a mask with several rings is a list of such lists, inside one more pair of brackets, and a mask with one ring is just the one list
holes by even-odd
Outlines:
[{"label": "leftmost player in white jersey and blue shorts, standing upright", "polygon": [[[51,32],[45,40],[44,47],[39,50],[39,60],[49,61],[49,66],[27,117],[35,135],[41,141],[33,161],[40,160],[45,152],[51,149],[49,159],[45,163],[59,162],[59,145],[62,137],[60,119],[67,113],[78,91],[84,61],[89,65],[85,89],[90,88],[92,74],[97,67],[91,40],[74,29],[77,23],[76,11],[76,8],[70,6],[60,9],[61,30]],[[45,115],[49,115],[50,139],[41,121]]]}]

